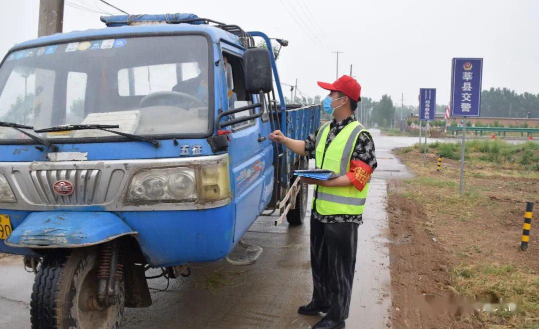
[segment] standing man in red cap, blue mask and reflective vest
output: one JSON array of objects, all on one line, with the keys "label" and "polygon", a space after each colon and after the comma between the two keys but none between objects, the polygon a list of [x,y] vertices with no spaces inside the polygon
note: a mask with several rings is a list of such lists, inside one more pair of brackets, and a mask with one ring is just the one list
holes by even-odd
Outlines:
[{"label": "standing man in red cap, blue mask and reflective vest", "polygon": [[372,136],[354,115],[361,100],[360,84],[342,76],[333,84],[319,81],[318,85],[330,91],[323,109],[334,119],[306,141],[287,138],[280,131],[269,137],[296,154],[314,157],[316,168],[337,174],[327,181],[302,177],[315,184],[310,218],[313,297],[298,313],[326,313],[313,328],[343,328],[354,282],[357,229],[363,223],[370,176],[377,162]]}]

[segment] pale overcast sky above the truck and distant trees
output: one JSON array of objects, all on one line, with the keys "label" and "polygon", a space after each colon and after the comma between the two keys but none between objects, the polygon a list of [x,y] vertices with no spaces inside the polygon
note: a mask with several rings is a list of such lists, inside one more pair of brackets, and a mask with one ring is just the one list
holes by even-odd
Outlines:
[{"label": "pale overcast sky above the truck and distant trees", "polygon": [[[353,75],[362,95],[391,95],[418,103],[420,87],[450,97],[451,58],[482,57],[483,89],[509,87],[539,93],[539,1],[536,0],[108,0],[131,13],[190,12],[246,31],[289,40],[278,60],[282,82],[305,95],[325,95],[317,80]],[[99,0],[66,0],[64,31],[102,28]],[[99,8],[98,8],[99,6]],[[37,37],[39,0],[0,0],[0,51]],[[289,95],[289,87],[285,87]]]}]

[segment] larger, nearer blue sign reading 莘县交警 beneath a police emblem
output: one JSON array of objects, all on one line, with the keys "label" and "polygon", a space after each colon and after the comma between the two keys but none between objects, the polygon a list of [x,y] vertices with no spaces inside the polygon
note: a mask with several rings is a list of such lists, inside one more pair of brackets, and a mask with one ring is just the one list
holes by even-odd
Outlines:
[{"label": "larger, nearer blue sign reading \u8398\u53bf\u4ea4\u8b66 beneath a police emblem", "polygon": [[482,58],[453,58],[451,116],[480,116]]}]

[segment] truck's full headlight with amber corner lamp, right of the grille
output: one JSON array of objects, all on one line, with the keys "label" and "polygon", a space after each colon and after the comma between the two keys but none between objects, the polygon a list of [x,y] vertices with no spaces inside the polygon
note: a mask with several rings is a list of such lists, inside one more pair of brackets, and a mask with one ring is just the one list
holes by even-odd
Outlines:
[{"label": "truck's full headlight with amber corner lamp, right of the grille", "polygon": [[127,191],[129,203],[204,202],[230,197],[228,157],[186,167],[143,170]]}]

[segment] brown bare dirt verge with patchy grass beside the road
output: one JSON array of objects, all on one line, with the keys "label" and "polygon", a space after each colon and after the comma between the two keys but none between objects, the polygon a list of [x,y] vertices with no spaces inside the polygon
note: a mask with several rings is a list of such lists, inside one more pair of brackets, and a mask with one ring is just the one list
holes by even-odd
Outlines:
[{"label": "brown bare dirt verge with patchy grass beside the road", "polygon": [[[436,154],[428,154],[423,167],[418,150],[396,153],[417,176],[388,184],[393,326],[538,328],[539,239],[533,228],[528,250],[519,247],[525,202],[536,201],[538,211],[539,179],[475,163],[466,168],[465,194],[459,196],[458,161],[444,159],[436,172]],[[530,290],[517,285],[522,280]],[[489,294],[521,294],[526,303],[520,313],[490,315],[419,307],[429,298]]]}]

